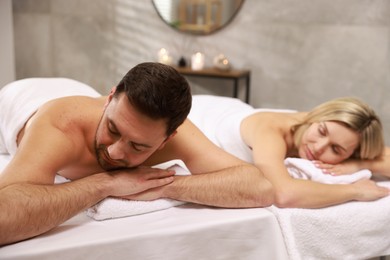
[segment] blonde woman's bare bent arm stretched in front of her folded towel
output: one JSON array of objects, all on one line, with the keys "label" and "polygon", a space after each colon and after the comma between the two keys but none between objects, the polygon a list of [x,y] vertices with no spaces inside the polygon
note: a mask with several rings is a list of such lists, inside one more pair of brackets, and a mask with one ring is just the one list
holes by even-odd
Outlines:
[{"label": "blonde woman's bare bent arm stretched in front of her folded towel", "polygon": [[263,117],[253,121],[252,124],[243,125],[246,127],[242,130],[243,138],[252,147],[255,165],[274,187],[276,206],[320,208],[351,200],[376,200],[388,195],[387,189],[378,187],[370,180],[330,185],[292,178],[284,165],[291,147],[288,144],[288,140],[291,140],[290,127],[285,126],[288,119]]}]

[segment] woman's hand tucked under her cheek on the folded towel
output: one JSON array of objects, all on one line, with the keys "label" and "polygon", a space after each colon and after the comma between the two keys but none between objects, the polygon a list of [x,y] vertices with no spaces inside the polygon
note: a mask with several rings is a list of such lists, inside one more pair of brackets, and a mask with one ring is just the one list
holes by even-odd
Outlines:
[{"label": "woman's hand tucked under her cheek on the folded towel", "polygon": [[328,164],[321,161],[314,161],[314,165],[321,169],[323,173],[334,176],[353,174],[362,170],[359,160],[347,160],[339,164]]}]

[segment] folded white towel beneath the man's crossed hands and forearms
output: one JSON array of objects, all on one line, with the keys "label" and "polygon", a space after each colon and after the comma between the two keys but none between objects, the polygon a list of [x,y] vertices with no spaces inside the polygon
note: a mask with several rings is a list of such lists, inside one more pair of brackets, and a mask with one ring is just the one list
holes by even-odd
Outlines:
[{"label": "folded white towel beneath the man's crossed hands and forearms", "polygon": [[[172,169],[176,175],[189,175],[185,165],[179,161],[169,161],[164,164],[154,166],[161,169]],[[186,202],[172,199],[157,199],[153,201],[136,201],[118,198],[106,198],[93,207],[87,209],[87,216],[95,220],[106,220],[113,218],[122,218],[134,215],[150,213],[158,210],[164,210],[171,207],[182,205]]]}]

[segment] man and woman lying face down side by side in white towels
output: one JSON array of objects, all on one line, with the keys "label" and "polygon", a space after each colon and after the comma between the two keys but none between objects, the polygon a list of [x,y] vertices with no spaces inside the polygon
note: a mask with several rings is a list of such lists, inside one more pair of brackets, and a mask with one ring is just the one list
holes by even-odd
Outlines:
[{"label": "man and woman lying face down side by side in white towels", "polygon": [[[301,157],[334,174],[389,174],[379,119],[359,101],[271,112],[195,96],[188,120],[191,99],[186,80],[159,63],[137,65],[108,96],[63,78],[4,87],[0,149],[14,156],[0,175],[0,244],[44,233],[107,197],[318,208],[389,193],[371,180],[296,180],[283,164]],[[173,159],[192,175],[149,167]],[[73,181],[53,185],[57,173]]]}]

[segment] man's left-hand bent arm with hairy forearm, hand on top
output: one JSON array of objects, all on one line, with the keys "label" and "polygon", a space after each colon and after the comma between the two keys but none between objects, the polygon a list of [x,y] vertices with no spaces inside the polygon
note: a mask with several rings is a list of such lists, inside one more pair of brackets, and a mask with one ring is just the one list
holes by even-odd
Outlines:
[{"label": "man's left-hand bent arm with hairy forearm, hand on top", "polygon": [[[69,132],[64,131],[51,120],[42,116],[31,124],[0,175],[1,245],[50,230],[107,196],[131,195],[173,181],[173,172],[150,168],[96,173],[99,167],[86,148],[84,132],[69,123]],[[84,168],[86,177],[77,181],[53,184],[57,172],[80,164],[96,166]]]}]

